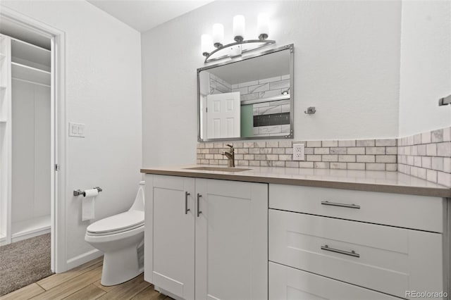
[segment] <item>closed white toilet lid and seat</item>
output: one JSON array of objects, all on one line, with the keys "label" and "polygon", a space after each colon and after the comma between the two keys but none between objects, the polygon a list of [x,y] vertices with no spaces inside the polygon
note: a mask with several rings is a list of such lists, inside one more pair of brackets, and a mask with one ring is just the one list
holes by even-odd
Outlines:
[{"label": "closed white toilet lid and seat", "polygon": [[98,220],[87,227],[89,234],[113,234],[144,225],[144,211],[126,211]]}]

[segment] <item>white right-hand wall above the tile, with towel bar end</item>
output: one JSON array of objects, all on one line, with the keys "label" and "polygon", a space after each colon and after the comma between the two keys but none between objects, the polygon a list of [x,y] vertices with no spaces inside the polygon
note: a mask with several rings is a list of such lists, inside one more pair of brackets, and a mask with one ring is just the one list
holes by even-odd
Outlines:
[{"label": "white right-hand wall above the tile, with towel bar end", "polygon": [[400,137],[451,125],[451,1],[403,1]]}]

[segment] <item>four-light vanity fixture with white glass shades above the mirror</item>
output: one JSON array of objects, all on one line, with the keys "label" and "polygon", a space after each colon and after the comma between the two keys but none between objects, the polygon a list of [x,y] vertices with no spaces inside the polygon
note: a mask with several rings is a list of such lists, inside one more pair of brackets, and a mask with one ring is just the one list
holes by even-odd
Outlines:
[{"label": "four-light vanity fixture with white glass shades above the mirror", "polygon": [[[241,56],[245,52],[276,43],[276,41],[268,39],[269,18],[266,13],[260,13],[257,17],[259,39],[245,39],[245,23],[244,15],[233,17],[233,39],[235,39],[235,42],[230,44],[224,45],[224,26],[219,23],[213,25],[213,37],[206,34],[202,35],[201,49],[202,55],[205,56],[204,63]],[[225,54],[220,55],[221,52]]]}]

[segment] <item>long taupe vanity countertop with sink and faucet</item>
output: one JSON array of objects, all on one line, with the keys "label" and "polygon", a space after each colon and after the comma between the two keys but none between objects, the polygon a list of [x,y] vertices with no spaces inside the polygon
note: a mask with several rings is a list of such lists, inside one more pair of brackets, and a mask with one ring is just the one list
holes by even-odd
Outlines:
[{"label": "long taupe vanity countertop with sink and faucet", "polygon": [[141,172],[158,175],[330,187],[336,189],[355,189],[369,192],[389,192],[451,198],[451,188],[449,187],[437,185],[433,182],[398,172],[245,166],[240,166],[236,169],[248,168],[251,170],[225,172],[187,169],[201,166],[225,167],[225,165],[174,165],[158,168],[142,168]]}]

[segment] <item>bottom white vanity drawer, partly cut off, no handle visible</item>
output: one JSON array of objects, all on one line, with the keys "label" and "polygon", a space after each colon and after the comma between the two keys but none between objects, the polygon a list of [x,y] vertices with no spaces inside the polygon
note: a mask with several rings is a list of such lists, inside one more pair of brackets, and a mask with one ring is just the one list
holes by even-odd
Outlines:
[{"label": "bottom white vanity drawer, partly cut off, no handle visible", "polygon": [[270,262],[269,300],[282,299],[399,300],[387,294]]}]

